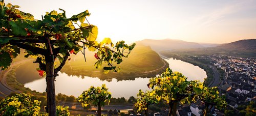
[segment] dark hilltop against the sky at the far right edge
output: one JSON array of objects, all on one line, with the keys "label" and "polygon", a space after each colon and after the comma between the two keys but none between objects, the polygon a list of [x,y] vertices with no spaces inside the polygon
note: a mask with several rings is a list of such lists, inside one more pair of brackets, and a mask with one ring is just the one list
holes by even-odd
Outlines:
[{"label": "dark hilltop against the sky at the far right edge", "polygon": [[222,44],[217,46],[219,49],[230,49],[230,50],[256,50],[256,39],[239,40],[228,44]]}]

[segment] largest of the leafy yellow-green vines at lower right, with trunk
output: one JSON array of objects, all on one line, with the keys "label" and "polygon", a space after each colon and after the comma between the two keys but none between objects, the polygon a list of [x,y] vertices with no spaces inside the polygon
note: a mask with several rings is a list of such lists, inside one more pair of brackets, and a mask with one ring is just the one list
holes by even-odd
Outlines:
[{"label": "largest of the leafy yellow-green vines at lower right, with trunk", "polygon": [[159,77],[151,78],[148,88],[152,88],[157,96],[165,100],[169,105],[169,115],[176,115],[177,105],[180,101],[190,101],[194,95],[193,84],[197,81],[187,81],[187,78],[179,72],[173,72],[167,68]]}]

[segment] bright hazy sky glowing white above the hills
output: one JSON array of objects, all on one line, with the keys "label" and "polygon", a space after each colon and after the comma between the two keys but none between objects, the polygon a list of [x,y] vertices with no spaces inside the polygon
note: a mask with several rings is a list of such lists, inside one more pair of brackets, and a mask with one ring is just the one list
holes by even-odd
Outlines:
[{"label": "bright hazy sky glowing white above the hills", "polygon": [[66,10],[67,17],[89,10],[98,40],[135,42],[179,39],[189,42],[229,43],[256,38],[256,1],[253,0],[72,0],[5,1],[37,19],[45,12]]}]

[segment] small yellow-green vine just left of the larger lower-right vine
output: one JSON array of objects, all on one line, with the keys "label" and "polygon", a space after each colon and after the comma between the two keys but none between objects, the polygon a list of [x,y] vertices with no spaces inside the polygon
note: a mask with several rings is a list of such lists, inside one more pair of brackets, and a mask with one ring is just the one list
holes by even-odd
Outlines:
[{"label": "small yellow-green vine just left of the larger lower-right vine", "polygon": [[156,95],[155,91],[146,91],[145,93],[139,90],[137,95],[139,98],[137,99],[137,103],[135,103],[135,107],[138,108],[138,112],[145,111],[145,115],[148,113],[148,106],[154,103],[158,103],[161,99],[158,95]]}]

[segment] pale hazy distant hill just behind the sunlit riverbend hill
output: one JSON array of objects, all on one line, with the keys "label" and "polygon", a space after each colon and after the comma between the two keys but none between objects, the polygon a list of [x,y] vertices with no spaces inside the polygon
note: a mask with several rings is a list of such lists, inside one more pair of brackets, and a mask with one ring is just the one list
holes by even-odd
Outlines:
[{"label": "pale hazy distant hill just behind the sunlit riverbend hill", "polygon": [[145,39],[145,40],[137,41],[136,43],[143,44],[146,46],[151,46],[151,48],[157,52],[162,51],[162,50],[204,47],[203,45],[200,45],[195,42],[186,42],[186,41],[182,41],[182,40],[172,40],[172,39],[164,39],[164,40]]}]

